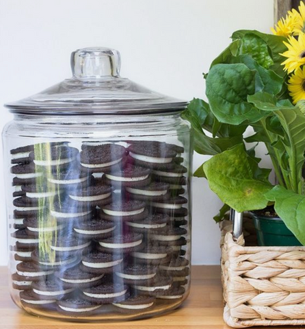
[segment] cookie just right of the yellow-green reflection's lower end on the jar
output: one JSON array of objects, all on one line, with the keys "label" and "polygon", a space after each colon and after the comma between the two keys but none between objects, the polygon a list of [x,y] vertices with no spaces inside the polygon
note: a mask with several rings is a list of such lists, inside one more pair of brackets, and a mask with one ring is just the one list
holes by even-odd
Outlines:
[{"label": "cookie just right of the yellow-green reflection's lower end on the jar", "polygon": [[83,251],[83,249],[89,247],[90,244],[91,241],[73,235],[65,236],[65,234],[62,234],[62,236],[51,242],[50,247],[58,253],[73,254]]}]

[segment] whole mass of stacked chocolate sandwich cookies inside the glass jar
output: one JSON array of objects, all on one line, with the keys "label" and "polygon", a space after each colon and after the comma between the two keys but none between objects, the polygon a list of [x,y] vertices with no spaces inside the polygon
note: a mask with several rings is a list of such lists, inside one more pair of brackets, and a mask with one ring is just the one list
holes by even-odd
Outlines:
[{"label": "whole mass of stacked chocolate sandwich cookies inside the glass jar", "polygon": [[140,314],[183,298],[183,152],[157,141],[13,149],[12,281],[21,304],[71,316],[105,304]]}]

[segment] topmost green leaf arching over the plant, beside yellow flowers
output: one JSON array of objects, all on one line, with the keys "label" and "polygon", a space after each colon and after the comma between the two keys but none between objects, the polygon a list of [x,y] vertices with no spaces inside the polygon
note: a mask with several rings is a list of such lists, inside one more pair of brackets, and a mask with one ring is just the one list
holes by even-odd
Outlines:
[{"label": "topmost green leaf arching over the plant, beside yellow flowers", "polygon": [[276,72],[281,77],[286,77],[287,73],[284,72],[283,66],[281,65],[281,63],[284,62],[284,58],[280,56],[280,53],[284,53],[284,51],[287,50],[287,47],[283,43],[283,41],[287,41],[287,38],[283,36],[274,36],[273,34],[265,34],[256,30],[241,29],[233,33],[233,41],[242,39],[247,34],[254,34],[266,42],[271,58],[274,61],[274,64],[269,66],[269,69]]}]

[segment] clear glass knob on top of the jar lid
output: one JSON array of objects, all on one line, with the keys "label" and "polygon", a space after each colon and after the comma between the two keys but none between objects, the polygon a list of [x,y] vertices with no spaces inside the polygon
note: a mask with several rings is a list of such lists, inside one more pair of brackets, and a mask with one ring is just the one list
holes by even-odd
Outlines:
[{"label": "clear glass knob on top of the jar lid", "polygon": [[73,77],[118,77],[120,53],[116,49],[92,47],[77,49],[71,53]]}]

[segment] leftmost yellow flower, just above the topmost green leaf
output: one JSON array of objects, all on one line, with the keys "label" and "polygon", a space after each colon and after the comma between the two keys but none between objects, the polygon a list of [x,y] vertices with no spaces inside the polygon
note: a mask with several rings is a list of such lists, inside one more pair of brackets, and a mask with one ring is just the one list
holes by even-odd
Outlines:
[{"label": "leftmost yellow flower, just above the topmost green leaf", "polygon": [[271,32],[276,36],[291,36],[293,32],[295,34],[299,34],[297,32],[301,28],[302,17],[299,12],[293,10],[288,12],[286,18],[280,19],[278,24],[275,26],[275,29],[271,27]]}]

